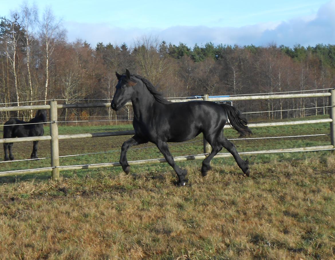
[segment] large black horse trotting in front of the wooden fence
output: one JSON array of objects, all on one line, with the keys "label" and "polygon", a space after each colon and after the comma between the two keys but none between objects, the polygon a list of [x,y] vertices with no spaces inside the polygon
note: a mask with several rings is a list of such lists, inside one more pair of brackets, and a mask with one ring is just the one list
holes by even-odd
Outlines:
[{"label": "large black horse trotting in front of the wooden fence", "polygon": [[242,171],[249,176],[248,160],[243,161],[235,145],[222,134],[227,118],[241,136],[251,134],[247,120],[235,107],[211,101],[169,102],[148,80],[130,75],[128,70],[123,75],[116,73],[116,77],[118,84],[111,103],[112,109],[117,111],[131,100],[134,110],[135,135],[125,141],[121,148],[120,164],[125,173],[130,171],[126,155],[128,148],[150,141],[157,145],[167,163],[177,173],[178,184],[185,185],[187,171],[175,164],[167,142],[182,142],[203,133],[212,146],[212,151],[202,162],[202,176],[207,175],[207,171],[211,169],[210,161],[222,147],[232,154]]}]

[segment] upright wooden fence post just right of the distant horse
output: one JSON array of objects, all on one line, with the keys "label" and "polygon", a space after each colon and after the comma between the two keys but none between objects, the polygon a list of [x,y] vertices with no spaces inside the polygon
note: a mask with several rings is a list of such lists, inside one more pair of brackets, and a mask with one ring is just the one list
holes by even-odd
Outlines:
[{"label": "upright wooden fence post just right of the distant horse", "polygon": [[58,126],[57,126],[57,101],[50,101],[50,136],[51,136],[51,167],[52,179],[59,179],[59,149],[58,149]]}]

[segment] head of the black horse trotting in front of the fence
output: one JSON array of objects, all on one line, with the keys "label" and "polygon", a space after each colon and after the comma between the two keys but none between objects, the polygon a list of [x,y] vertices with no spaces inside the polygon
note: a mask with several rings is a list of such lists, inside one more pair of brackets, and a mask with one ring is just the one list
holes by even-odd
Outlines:
[{"label": "head of the black horse trotting in front of the fence", "polygon": [[134,79],[128,70],[123,75],[116,72],[118,78],[118,84],[116,85],[115,94],[111,103],[113,110],[117,111],[123,107],[129,100],[131,100],[134,94],[134,88],[136,79]]}]

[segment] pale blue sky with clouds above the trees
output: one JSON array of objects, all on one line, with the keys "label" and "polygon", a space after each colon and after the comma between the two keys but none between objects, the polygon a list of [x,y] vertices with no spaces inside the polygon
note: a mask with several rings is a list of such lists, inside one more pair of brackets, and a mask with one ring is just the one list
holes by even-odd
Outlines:
[{"label": "pale blue sky with clouds above the trees", "polygon": [[[51,7],[68,41],[82,39],[133,46],[144,36],[193,47],[207,42],[266,46],[335,44],[335,0],[281,1],[91,1],[26,0],[39,13]],[[0,16],[19,10],[19,1],[0,0]]]}]

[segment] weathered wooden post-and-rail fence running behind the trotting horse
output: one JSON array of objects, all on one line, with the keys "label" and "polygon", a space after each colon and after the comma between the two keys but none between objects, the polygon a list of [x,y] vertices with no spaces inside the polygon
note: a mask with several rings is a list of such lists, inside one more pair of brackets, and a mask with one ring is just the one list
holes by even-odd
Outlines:
[{"label": "weathered wooden post-and-rail fence running behind the trotting horse", "polygon": [[[259,100],[259,99],[285,99],[285,98],[309,98],[309,97],[329,97],[329,107],[330,107],[330,118],[320,119],[320,120],[302,120],[302,121],[292,121],[292,122],[275,122],[275,123],[261,123],[261,124],[249,124],[249,127],[271,127],[271,126],[284,126],[284,125],[298,125],[298,124],[316,124],[316,123],[330,123],[330,145],[323,146],[313,146],[313,147],[301,147],[301,148],[289,148],[289,149],[277,149],[277,150],[264,150],[264,151],[251,151],[240,154],[257,154],[257,153],[276,153],[276,152],[291,152],[291,151],[308,151],[308,150],[326,150],[333,149],[335,146],[335,89],[330,89],[326,93],[308,93],[308,94],[279,94],[279,95],[257,95],[257,96],[233,96],[228,99],[234,100]],[[208,100],[208,95],[204,95],[203,100]],[[170,100],[172,102],[182,102],[191,101],[192,99],[176,99]],[[200,99],[197,99],[200,100]],[[226,101],[227,97],[218,98],[211,97],[211,101]],[[127,106],[131,106],[128,102]],[[85,108],[85,107],[109,107],[110,103],[91,103],[91,104],[57,104],[57,101],[50,101],[49,105],[34,105],[34,106],[12,106],[12,107],[0,107],[0,112],[5,111],[22,111],[22,110],[38,110],[47,109],[50,110],[50,135],[48,136],[38,136],[38,137],[22,137],[22,138],[5,138],[0,139],[0,143],[11,143],[11,142],[26,142],[26,141],[42,141],[50,140],[51,142],[51,166],[39,169],[26,169],[17,171],[0,172],[1,176],[7,175],[18,175],[27,173],[41,173],[41,172],[52,172],[53,179],[59,179],[59,172],[65,170],[76,170],[76,169],[93,169],[102,167],[116,167],[120,166],[120,163],[101,163],[101,164],[83,164],[83,165],[71,165],[71,166],[61,166],[59,164],[59,149],[58,141],[64,139],[74,139],[74,138],[90,138],[90,137],[104,137],[104,136],[120,136],[120,135],[133,135],[134,130],[129,131],[118,131],[118,132],[106,132],[106,133],[86,133],[86,134],[74,134],[74,135],[58,135],[58,125],[57,125],[57,109],[68,109],[68,108]],[[228,125],[225,126],[229,127]],[[195,159],[205,159],[207,154],[210,152],[210,146],[204,140],[204,154],[193,155],[193,156],[181,156],[176,157],[175,161],[188,161]],[[218,154],[218,157],[228,157],[230,154]],[[142,160],[142,161],[132,161],[129,165],[139,165],[139,164],[152,164],[152,163],[163,163],[166,162],[165,159],[152,159],[152,160]]]}]

